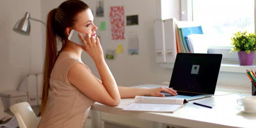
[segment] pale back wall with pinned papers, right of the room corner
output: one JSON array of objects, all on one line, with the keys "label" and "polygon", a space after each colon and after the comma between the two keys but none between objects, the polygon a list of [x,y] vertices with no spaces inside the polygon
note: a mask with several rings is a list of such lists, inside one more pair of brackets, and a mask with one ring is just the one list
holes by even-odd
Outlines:
[{"label": "pale back wall with pinned papers, right of the room corner", "polygon": [[[58,2],[57,2],[58,1]],[[45,19],[47,13],[59,6],[63,0],[43,0],[42,1],[42,19]],[[96,13],[96,2],[94,0],[85,0],[94,14]],[[126,15],[139,15],[138,26],[125,25],[125,40],[111,40],[111,27],[109,12],[111,6],[123,5]],[[154,30],[153,21],[155,19],[156,9],[155,0],[104,0],[104,17],[94,16],[94,23],[98,26],[100,22],[106,22],[106,30],[97,30],[97,35],[101,37],[101,45],[104,53],[106,49],[116,49],[118,44],[123,44],[124,53],[116,54],[115,60],[106,60],[115,80],[120,86],[139,85],[146,83],[159,83],[170,79],[171,70],[159,68],[155,62],[154,55]],[[128,33],[137,31],[139,35],[139,55],[128,55]],[[99,74],[93,61],[83,52],[82,61],[89,66],[93,74],[98,78]]]}]

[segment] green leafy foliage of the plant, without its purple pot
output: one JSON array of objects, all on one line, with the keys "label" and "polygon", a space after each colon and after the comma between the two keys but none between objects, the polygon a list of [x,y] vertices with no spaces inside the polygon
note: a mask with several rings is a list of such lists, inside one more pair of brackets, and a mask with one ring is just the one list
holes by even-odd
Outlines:
[{"label": "green leafy foliage of the plant, without its purple pot", "polygon": [[244,32],[237,31],[231,40],[233,48],[230,53],[233,53],[233,51],[245,51],[249,54],[251,51],[256,51],[255,33],[247,33],[246,30]]}]

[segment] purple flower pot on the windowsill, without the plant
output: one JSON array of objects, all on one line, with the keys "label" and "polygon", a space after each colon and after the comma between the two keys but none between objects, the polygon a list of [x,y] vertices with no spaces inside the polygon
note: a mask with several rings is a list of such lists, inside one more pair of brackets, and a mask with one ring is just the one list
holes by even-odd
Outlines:
[{"label": "purple flower pot on the windowsill, without the plant", "polygon": [[253,65],[254,51],[249,54],[245,51],[239,51],[238,58],[240,65]]}]

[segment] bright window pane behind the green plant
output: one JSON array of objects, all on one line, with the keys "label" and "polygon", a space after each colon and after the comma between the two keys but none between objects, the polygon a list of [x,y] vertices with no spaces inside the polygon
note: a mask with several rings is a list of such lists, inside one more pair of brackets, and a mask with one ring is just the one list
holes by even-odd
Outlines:
[{"label": "bright window pane behind the green plant", "polygon": [[231,47],[236,31],[254,33],[254,0],[192,0],[192,20],[200,22],[209,47]]}]

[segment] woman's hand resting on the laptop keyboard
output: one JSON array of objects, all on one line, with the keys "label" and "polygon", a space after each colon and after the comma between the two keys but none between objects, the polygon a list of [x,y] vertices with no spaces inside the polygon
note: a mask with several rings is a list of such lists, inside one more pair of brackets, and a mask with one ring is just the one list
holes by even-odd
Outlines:
[{"label": "woman's hand resting on the laptop keyboard", "polygon": [[177,91],[173,90],[172,88],[158,87],[158,88],[150,88],[148,95],[152,97],[164,97],[165,95],[162,94],[161,92],[166,92],[173,96],[178,94]]}]

